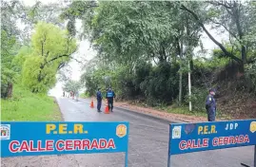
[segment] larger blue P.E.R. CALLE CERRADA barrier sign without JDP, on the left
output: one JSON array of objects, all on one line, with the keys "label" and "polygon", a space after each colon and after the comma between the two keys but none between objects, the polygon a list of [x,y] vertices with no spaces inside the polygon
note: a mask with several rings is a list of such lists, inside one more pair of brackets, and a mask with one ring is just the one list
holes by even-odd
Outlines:
[{"label": "larger blue P.E.R. CALLE CERRADA barrier sign without JDP, on the left", "polygon": [[128,122],[2,121],[1,158],[125,152]]}]

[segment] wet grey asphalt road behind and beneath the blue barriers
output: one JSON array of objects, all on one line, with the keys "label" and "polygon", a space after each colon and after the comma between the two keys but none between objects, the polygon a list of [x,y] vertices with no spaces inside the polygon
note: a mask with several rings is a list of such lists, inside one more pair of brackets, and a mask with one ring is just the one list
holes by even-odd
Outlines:
[{"label": "wet grey asphalt road behind and beneath the blue barriers", "polygon": [[[89,101],[75,102],[67,98],[58,99],[65,121],[128,121],[129,150],[128,167],[167,167],[168,124],[144,118],[114,108],[113,113],[96,112]],[[102,107],[104,109],[104,107]],[[241,162],[253,166],[253,147],[190,153],[173,156],[171,167],[241,167]],[[123,167],[125,155],[93,154],[42,156],[1,159],[6,167]]]}]

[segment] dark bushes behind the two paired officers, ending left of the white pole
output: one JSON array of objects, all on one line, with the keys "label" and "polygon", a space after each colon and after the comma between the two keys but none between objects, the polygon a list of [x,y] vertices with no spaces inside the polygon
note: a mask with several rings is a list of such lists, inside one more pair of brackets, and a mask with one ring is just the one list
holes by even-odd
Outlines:
[{"label": "dark bushes behind the two paired officers, ending left of the white pole", "polygon": [[117,66],[114,71],[95,69],[83,77],[90,96],[95,94],[98,86],[107,88],[111,85],[118,99],[134,100],[139,97],[155,106],[172,102],[178,96],[178,70],[179,65],[167,62],[154,67],[141,62],[134,66],[134,70],[129,69],[128,65]]}]

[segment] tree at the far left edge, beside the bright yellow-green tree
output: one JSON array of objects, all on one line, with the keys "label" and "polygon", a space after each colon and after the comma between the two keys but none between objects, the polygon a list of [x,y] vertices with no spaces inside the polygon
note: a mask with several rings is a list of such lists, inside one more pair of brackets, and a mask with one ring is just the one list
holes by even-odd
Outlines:
[{"label": "tree at the far left edge, beside the bright yellow-green tree", "polygon": [[1,98],[10,98],[12,85],[16,79],[12,60],[19,49],[20,31],[16,27],[16,20],[22,16],[20,2],[1,1]]}]

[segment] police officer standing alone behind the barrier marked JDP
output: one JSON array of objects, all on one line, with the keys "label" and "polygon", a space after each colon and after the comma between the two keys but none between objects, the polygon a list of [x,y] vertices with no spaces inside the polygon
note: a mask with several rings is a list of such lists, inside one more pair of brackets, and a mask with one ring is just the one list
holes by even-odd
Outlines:
[{"label": "police officer standing alone behind the barrier marked JDP", "polygon": [[215,92],[215,89],[210,89],[209,95],[207,96],[206,109],[208,121],[215,121],[216,117],[216,101],[214,99]]}]

